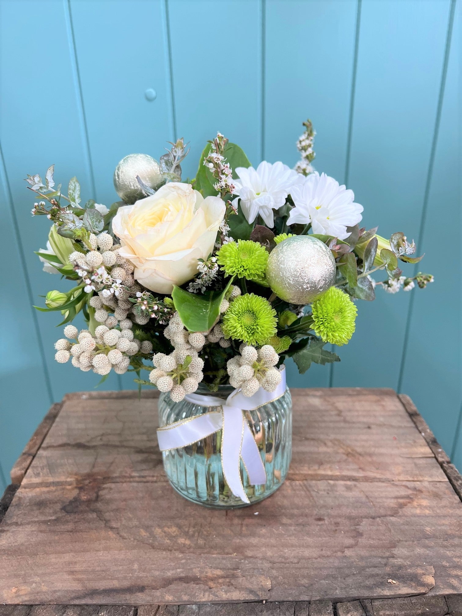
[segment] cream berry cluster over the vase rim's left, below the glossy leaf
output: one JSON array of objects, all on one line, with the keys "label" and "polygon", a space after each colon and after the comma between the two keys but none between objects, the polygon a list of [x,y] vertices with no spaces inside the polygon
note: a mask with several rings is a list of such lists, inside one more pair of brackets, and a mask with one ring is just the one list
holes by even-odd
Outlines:
[{"label": "cream berry cluster over the vase rim's left, below the glossy leaf", "polygon": [[164,329],[164,336],[169,339],[174,351],[169,355],[154,355],[152,362],[155,368],[150,371],[149,380],[160,391],[169,391],[174,402],[180,402],[186,394],[195,392],[204,378],[204,360],[199,357],[199,352],[206,339],[199,331],[188,333],[177,312]]}]

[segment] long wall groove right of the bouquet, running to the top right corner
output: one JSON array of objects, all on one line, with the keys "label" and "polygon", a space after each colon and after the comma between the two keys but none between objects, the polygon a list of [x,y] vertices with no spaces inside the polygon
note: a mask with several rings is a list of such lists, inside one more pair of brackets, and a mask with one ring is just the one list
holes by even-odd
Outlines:
[{"label": "long wall groove right of the bouquet, running to the top right corner", "polygon": [[[417,236],[417,242],[419,246],[421,245],[422,240],[423,240],[425,222],[426,222],[427,211],[428,211],[428,201],[429,201],[429,195],[430,195],[431,180],[432,180],[432,175],[433,175],[433,167],[434,167],[434,162],[435,162],[436,146],[438,143],[441,113],[442,113],[443,101],[444,101],[444,91],[445,91],[445,86],[446,86],[446,76],[447,76],[447,71],[448,71],[449,53],[451,49],[451,39],[452,39],[455,7],[456,7],[456,0],[451,0],[449,17],[448,17],[448,27],[447,27],[447,34],[446,34],[443,67],[441,71],[440,89],[439,89],[438,102],[437,102],[437,107],[436,107],[435,126],[433,130],[430,158],[428,161],[427,179],[425,182],[425,190],[424,190],[424,198],[423,198],[423,205],[422,205],[422,214],[420,218],[419,233]],[[417,270],[418,270],[418,264],[414,266],[414,275],[416,275]],[[399,393],[401,393],[401,389],[403,385],[403,371],[404,371],[405,363],[407,360],[409,330],[411,326],[411,318],[412,318],[412,312],[414,308],[414,302],[415,302],[415,293],[412,293],[410,301],[409,301],[407,318],[406,318],[406,328],[405,328],[405,334],[404,334],[403,351],[401,355],[400,370],[399,370],[399,377],[398,377],[398,384],[397,384],[397,391]]]}]

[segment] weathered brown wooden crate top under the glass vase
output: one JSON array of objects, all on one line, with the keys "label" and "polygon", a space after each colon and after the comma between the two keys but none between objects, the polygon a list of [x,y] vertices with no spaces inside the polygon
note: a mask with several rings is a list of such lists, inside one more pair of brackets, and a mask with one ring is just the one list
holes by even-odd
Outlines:
[{"label": "weathered brown wooden crate top under the glass vase", "polygon": [[461,616],[462,479],[410,399],[292,395],[285,484],[217,511],[169,486],[155,392],[68,394],[0,505],[0,615]]}]

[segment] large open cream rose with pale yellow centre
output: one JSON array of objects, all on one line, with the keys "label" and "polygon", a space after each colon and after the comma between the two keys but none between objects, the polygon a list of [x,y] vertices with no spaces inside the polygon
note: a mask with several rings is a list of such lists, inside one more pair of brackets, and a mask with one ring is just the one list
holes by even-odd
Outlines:
[{"label": "large open cream rose with pale yellow centre", "polygon": [[119,208],[112,228],[135,279],[156,293],[171,293],[197,274],[197,259],[212,252],[225,209],[221,198],[204,199],[190,184],[171,182]]}]

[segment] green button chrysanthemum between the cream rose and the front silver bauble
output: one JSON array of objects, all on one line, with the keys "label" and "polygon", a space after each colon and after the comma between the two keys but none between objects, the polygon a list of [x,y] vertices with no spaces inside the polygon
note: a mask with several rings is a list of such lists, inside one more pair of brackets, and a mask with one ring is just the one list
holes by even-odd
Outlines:
[{"label": "green button chrysanthemum between the cream rose and the front silver bauble", "polygon": [[220,248],[217,261],[227,276],[259,282],[265,277],[268,251],[256,241],[230,241]]}]

